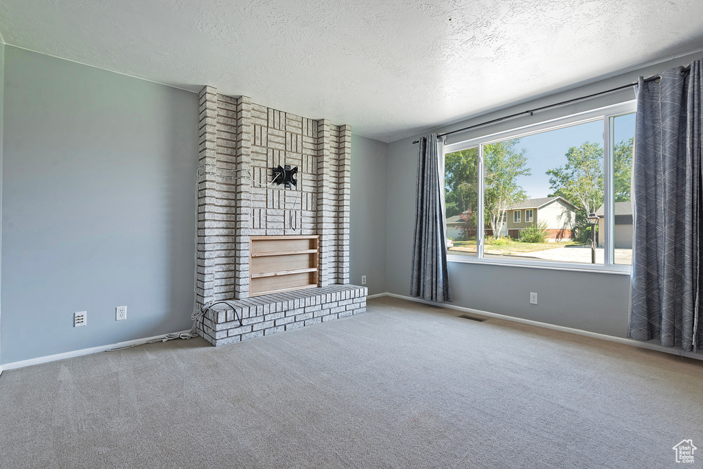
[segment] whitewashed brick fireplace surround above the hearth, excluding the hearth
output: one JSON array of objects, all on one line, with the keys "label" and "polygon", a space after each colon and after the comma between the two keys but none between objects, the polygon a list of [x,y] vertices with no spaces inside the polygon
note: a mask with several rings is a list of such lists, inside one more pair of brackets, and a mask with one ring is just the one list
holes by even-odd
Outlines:
[{"label": "whitewashed brick fireplace surround above the hearth, excluding the hearth", "polygon": [[[349,283],[348,125],[205,86],[199,135],[198,304],[248,297],[254,235],[320,235],[321,285]],[[278,165],[298,167],[297,186],[269,186]]]}]

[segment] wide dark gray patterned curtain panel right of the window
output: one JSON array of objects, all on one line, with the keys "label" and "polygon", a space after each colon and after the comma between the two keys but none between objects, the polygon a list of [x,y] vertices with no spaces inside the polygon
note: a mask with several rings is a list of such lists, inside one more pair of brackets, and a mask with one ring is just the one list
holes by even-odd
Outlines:
[{"label": "wide dark gray patterned curtain panel right of the window", "polygon": [[640,78],[629,335],[696,350],[701,313],[701,60]]}]

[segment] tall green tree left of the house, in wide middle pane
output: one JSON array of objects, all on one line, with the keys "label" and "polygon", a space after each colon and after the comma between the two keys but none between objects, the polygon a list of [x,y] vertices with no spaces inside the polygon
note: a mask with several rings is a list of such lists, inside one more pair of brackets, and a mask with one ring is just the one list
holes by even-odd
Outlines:
[{"label": "tall green tree left of the house, in wide middle pane", "polygon": [[520,139],[505,140],[484,146],[484,217],[494,238],[500,236],[505,213],[515,203],[527,198],[518,184],[520,176],[529,176],[526,150],[517,150]]}]

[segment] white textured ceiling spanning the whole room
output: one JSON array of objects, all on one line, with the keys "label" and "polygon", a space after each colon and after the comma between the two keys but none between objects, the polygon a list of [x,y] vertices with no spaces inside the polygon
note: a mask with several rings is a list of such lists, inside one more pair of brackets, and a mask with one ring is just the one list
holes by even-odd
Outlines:
[{"label": "white textured ceiling spanning the whole room", "polygon": [[6,44],[394,141],[703,49],[701,0],[2,0]]}]

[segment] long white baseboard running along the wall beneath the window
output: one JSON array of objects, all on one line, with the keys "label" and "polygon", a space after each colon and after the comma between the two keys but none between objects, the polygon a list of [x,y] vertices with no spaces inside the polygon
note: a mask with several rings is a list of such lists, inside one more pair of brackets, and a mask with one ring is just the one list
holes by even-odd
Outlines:
[{"label": "long white baseboard running along the wall beneath the window", "polygon": [[[401,300],[414,301],[416,303],[431,304],[432,306],[439,306],[447,309],[456,309],[457,311],[465,311],[467,313],[478,314],[480,316],[489,316],[491,318],[503,319],[505,321],[512,321],[515,323],[529,324],[530,326],[537,326],[545,329],[559,330],[561,332],[572,333],[576,335],[583,335],[586,337],[591,337],[594,339],[607,340],[609,342],[618,342],[619,344],[633,345],[634,347],[640,347],[643,349],[657,350],[657,352],[664,352],[667,354],[673,354],[678,356],[686,356],[688,358],[703,360],[703,354],[698,354],[695,352],[686,352],[685,350],[676,349],[673,347],[664,347],[663,345],[652,344],[650,342],[640,342],[639,340],[627,339],[616,337],[614,335],[600,334],[591,332],[589,330],[568,328],[565,326],[557,326],[550,323],[542,323],[539,321],[531,321],[531,319],[516,318],[514,316],[506,316],[505,314],[491,313],[489,311],[482,311],[481,309],[467,308],[463,306],[456,306],[455,304],[447,303],[435,303],[421,298],[409,297],[406,295],[397,295],[396,293],[381,293],[380,295],[373,295],[374,298],[389,296],[394,298],[400,298]],[[371,297],[368,297],[371,298]]]}]

